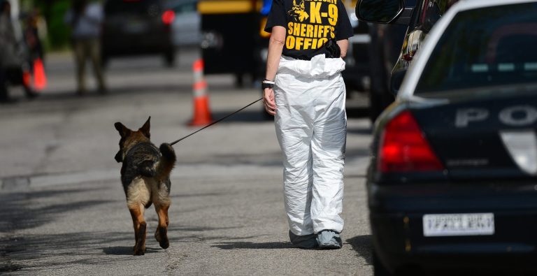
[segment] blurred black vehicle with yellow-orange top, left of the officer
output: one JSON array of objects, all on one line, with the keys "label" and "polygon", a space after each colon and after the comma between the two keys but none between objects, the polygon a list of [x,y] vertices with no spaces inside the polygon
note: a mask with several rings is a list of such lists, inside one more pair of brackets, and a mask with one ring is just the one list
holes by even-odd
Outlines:
[{"label": "blurred black vehicle with yellow-orange top, left of the officer", "polygon": [[234,74],[238,87],[264,78],[270,37],[264,26],[271,3],[271,0],[199,1],[201,56],[206,74]]}]

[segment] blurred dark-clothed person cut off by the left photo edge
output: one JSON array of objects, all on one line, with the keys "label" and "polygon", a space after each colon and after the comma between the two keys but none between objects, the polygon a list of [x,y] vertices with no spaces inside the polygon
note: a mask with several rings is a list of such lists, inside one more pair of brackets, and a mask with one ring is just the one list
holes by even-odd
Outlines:
[{"label": "blurred dark-clothed person cut off by the left photo edge", "polygon": [[17,38],[11,22],[11,4],[0,0],[0,103],[12,103],[8,92],[8,74],[13,67],[20,67],[17,58]]}]

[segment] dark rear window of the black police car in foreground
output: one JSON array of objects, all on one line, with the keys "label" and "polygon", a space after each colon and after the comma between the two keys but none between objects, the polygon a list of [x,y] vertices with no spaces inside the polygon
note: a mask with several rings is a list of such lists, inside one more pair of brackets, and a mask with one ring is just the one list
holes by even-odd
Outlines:
[{"label": "dark rear window of the black police car in foreground", "polygon": [[427,61],[415,94],[537,82],[537,3],[458,13]]}]

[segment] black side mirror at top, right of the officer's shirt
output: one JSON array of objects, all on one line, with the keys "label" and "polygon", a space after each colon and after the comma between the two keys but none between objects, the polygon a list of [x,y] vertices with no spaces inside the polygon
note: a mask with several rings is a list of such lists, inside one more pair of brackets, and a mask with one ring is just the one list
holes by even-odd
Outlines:
[{"label": "black side mirror at top, right of the officer's shirt", "polygon": [[365,22],[391,23],[404,9],[403,0],[359,0],[355,12]]}]

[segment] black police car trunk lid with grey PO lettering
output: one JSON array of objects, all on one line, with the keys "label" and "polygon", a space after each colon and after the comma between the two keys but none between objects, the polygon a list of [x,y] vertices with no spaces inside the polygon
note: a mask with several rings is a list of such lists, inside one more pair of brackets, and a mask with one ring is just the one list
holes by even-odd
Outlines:
[{"label": "black police car trunk lid with grey PO lettering", "polygon": [[537,96],[450,99],[413,108],[424,136],[450,180],[527,179],[537,173]]}]

